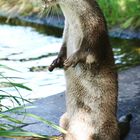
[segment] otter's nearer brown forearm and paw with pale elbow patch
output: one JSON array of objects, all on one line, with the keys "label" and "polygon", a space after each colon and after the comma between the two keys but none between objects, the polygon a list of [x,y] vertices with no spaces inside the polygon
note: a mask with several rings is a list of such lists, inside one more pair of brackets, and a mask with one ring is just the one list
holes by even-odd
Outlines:
[{"label": "otter's nearer brown forearm and paw with pale elbow patch", "polygon": [[79,62],[85,64],[93,64],[95,63],[95,56],[88,52],[76,51],[73,55],[64,61],[64,66],[65,68],[70,66],[75,67]]}]

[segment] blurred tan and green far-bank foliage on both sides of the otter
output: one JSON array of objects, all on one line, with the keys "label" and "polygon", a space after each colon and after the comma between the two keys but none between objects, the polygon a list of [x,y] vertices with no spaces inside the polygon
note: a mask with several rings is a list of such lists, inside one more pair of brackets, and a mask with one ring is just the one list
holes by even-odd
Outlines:
[{"label": "blurred tan and green far-bank foliage on both sides of the otter", "polygon": [[[140,27],[139,0],[98,0],[109,26],[120,25],[122,28]],[[44,9],[43,0],[0,0],[0,14],[40,15]],[[57,14],[54,8],[53,14]],[[42,15],[44,15],[42,13]]]}]

